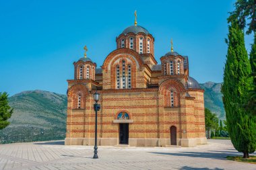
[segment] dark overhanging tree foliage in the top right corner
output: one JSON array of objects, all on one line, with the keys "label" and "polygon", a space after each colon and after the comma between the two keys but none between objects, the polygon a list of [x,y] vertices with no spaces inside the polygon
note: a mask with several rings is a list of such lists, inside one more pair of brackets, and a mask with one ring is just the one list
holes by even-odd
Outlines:
[{"label": "dark overhanging tree foliage in the top right corner", "polygon": [[256,0],[237,0],[234,6],[235,10],[230,12],[228,22],[238,22],[242,29],[249,26],[247,34],[256,32]]}]

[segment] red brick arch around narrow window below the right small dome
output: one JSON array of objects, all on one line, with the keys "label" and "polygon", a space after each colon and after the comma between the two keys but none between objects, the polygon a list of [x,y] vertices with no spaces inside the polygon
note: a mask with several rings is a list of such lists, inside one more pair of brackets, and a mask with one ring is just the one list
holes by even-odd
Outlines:
[{"label": "red brick arch around narrow window below the right small dome", "polygon": [[[164,95],[164,106],[165,107],[179,107],[181,105],[181,92],[186,91],[184,85],[179,80],[168,79],[161,83],[159,91]],[[173,99],[171,99],[171,91]]]}]

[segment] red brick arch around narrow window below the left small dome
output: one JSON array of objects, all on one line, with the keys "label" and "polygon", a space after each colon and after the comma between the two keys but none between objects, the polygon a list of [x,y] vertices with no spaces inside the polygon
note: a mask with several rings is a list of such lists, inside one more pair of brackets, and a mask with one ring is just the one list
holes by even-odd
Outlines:
[{"label": "red brick arch around narrow window below the left small dome", "polygon": [[[72,109],[84,109],[86,108],[86,97],[88,97],[89,91],[84,84],[72,85],[67,90],[68,101],[71,101]],[[78,97],[81,97],[81,106],[78,108]]]}]

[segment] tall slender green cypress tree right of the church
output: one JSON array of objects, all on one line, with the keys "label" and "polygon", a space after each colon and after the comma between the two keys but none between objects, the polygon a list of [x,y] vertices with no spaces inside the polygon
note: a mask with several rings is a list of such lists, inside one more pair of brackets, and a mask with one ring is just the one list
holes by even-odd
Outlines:
[{"label": "tall slender green cypress tree right of the church", "polygon": [[256,121],[243,106],[252,80],[251,67],[245,49],[244,34],[237,22],[228,27],[228,54],[222,85],[223,103],[226,111],[228,133],[237,151],[249,157],[256,148]]}]

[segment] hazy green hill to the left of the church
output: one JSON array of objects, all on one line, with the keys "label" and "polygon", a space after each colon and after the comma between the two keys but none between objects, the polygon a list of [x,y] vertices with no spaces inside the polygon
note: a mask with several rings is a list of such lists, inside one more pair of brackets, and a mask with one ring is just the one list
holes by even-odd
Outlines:
[{"label": "hazy green hill to the left of the church", "polygon": [[44,132],[44,138],[63,135],[66,131],[67,97],[48,91],[24,91],[9,97],[13,114],[11,124],[0,130],[0,136],[22,134],[34,136]]}]

